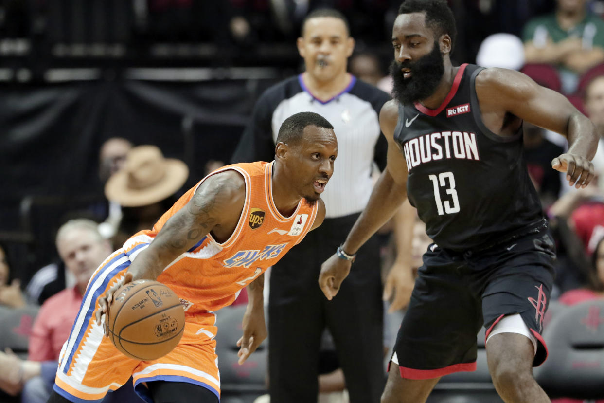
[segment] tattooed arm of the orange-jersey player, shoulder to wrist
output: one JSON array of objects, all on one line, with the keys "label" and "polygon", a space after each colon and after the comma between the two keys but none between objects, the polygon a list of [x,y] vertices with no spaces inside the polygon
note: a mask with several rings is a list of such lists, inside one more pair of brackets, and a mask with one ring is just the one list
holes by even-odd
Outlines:
[{"label": "tattooed arm of the orange-jersey player, shoulder to wrist", "polygon": [[245,181],[238,172],[229,170],[207,178],[132,263],[129,271],[134,279],[156,279],[165,266],[193,248],[210,231],[219,242],[228,239],[244,204]]}]

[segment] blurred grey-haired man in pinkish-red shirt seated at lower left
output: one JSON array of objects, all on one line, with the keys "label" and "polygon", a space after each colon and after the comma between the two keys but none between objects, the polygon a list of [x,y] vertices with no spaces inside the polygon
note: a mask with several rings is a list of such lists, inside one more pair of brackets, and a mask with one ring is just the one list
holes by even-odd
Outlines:
[{"label": "blurred grey-haired man in pinkish-red shirt seated at lower left", "polygon": [[22,402],[45,402],[50,396],[61,347],[82,303],[88,280],[111,253],[111,245],[97,230],[97,223],[74,219],[59,228],[57,251],[66,269],[76,279],[73,288],[64,289],[42,304],[34,321],[27,360],[10,352],[0,352],[0,385],[16,395],[23,390]]}]

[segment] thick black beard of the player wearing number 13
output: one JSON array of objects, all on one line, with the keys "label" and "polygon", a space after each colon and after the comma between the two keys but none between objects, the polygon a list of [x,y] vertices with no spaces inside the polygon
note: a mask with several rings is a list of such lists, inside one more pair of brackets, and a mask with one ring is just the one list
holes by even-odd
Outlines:
[{"label": "thick black beard of the player wearing number 13", "polygon": [[[411,69],[411,77],[405,79],[402,68]],[[438,42],[434,42],[432,51],[420,57],[416,62],[399,63],[393,60],[390,63],[390,74],[394,86],[393,97],[403,105],[419,102],[434,94],[436,87],[445,74],[445,63],[440,53]]]}]

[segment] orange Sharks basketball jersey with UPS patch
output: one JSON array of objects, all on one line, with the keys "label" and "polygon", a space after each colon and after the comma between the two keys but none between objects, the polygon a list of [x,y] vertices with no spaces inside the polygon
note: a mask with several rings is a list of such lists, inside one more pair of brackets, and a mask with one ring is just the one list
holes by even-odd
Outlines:
[{"label": "orange Sharks basketball jersey with UPS patch", "polygon": [[[188,313],[216,311],[233,303],[239,291],[300,242],[315,221],[318,204],[310,205],[304,199],[290,217],[279,213],[272,199],[272,163],[233,164],[210,175],[230,169],[245,178],[246,187],[245,204],[233,234],[223,243],[208,234],[157,279],[182,298]],[[161,216],[152,230],[141,231],[124,243],[124,249],[150,243],[208,176]]]}]

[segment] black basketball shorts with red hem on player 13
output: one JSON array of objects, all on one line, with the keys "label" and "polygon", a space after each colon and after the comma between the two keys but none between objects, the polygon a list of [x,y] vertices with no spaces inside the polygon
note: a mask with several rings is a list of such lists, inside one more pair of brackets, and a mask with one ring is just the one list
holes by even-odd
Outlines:
[{"label": "black basketball shorts with red hem on player 13", "polygon": [[520,314],[538,341],[533,366],[547,357],[541,337],[554,280],[556,250],[541,224],[481,251],[434,243],[400,325],[394,352],[403,378],[429,379],[476,369],[477,333]]}]

